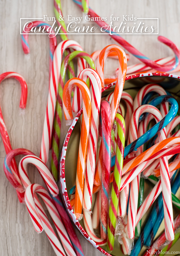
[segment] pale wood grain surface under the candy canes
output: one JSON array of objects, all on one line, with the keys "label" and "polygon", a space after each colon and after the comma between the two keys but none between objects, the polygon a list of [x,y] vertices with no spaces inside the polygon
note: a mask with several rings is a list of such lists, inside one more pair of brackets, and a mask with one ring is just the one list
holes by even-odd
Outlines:
[{"label": "pale wood grain surface under the candy canes", "polygon": [[[62,0],[65,17],[68,14],[82,16],[72,0]],[[137,17],[159,18],[159,35],[171,39],[180,47],[180,2],[178,0],[90,0],[90,6],[100,16],[134,14]],[[48,96],[49,38],[45,35],[30,35],[30,54],[24,54],[21,47],[20,18],[54,17],[53,1],[48,0],[2,0],[0,1],[0,72],[20,73],[28,85],[27,106],[20,112],[20,85],[14,79],[7,79],[0,86],[0,104],[9,132],[12,148],[27,148],[37,156],[40,153],[43,121]],[[171,50],[158,42],[157,35],[123,35],[123,37],[151,59],[172,55]],[[108,44],[115,43],[108,35],[70,35],[78,41],[84,51],[91,54]],[[60,42],[60,36],[57,37]],[[129,64],[138,63],[130,55]],[[107,61],[105,76],[114,73],[117,61]],[[179,73],[180,74],[180,73]],[[63,123],[61,143],[67,127]],[[50,154],[51,155],[51,154]],[[19,203],[16,191],[8,182],[3,171],[6,156],[0,137],[0,255],[3,256],[50,256],[55,255],[45,233],[37,234],[31,223],[26,206]],[[17,163],[20,158],[17,157]],[[50,166],[50,157],[48,161]],[[28,170],[32,183],[43,184],[34,166]],[[100,256],[81,234],[85,256]]]}]

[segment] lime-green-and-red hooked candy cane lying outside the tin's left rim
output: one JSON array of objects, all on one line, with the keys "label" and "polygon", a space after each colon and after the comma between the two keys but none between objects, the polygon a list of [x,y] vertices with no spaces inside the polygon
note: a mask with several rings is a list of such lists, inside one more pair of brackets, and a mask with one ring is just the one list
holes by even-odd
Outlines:
[{"label": "lime-green-and-red hooked candy cane lying outside the tin's left rim", "polygon": [[[59,144],[60,144],[60,133],[61,133],[61,121],[62,121],[62,98],[63,88],[65,82],[66,69],[68,64],[74,59],[80,57],[86,60],[91,68],[94,68],[94,62],[88,53],[83,51],[73,51],[68,54],[61,64],[60,71],[60,82],[58,86],[58,95],[56,100],[55,117],[54,117],[54,128],[53,128],[53,141],[52,141],[52,161],[51,171],[55,180],[58,180],[58,157],[59,157]],[[79,59],[79,58],[78,58]]]}]

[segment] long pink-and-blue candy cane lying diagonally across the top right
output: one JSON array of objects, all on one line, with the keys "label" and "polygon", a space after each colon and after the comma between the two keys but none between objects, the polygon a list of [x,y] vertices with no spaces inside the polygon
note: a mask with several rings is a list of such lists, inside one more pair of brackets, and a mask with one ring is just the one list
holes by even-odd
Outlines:
[{"label": "long pink-and-blue candy cane lying diagonally across the top right", "polygon": [[[81,8],[81,1],[80,0],[73,0],[74,3],[76,3],[80,8]],[[89,13],[90,17],[99,17],[91,8],[89,8]],[[100,18],[100,17],[99,17]],[[97,18],[96,18],[97,19]],[[106,32],[115,40],[117,41],[122,47],[127,49],[130,53],[132,53],[136,58],[138,58],[140,61],[145,63],[147,66],[151,68],[155,68],[156,70],[159,70],[160,72],[167,72],[171,71],[172,69],[176,68],[179,64],[179,59],[180,59],[180,51],[178,47],[169,39],[163,37],[163,36],[158,36],[158,40],[167,46],[169,46],[174,54],[175,58],[172,64],[170,65],[160,65],[154,61],[151,61],[149,58],[144,56],[142,53],[140,53],[137,49],[135,49],[132,45],[130,45],[127,41],[125,41],[121,36],[117,34],[110,34],[110,31],[107,29],[109,25],[106,24],[106,22],[102,21],[100,18],[100,21],[97,21],[96,19],[95,22],[100,26],[106,28]]]}]

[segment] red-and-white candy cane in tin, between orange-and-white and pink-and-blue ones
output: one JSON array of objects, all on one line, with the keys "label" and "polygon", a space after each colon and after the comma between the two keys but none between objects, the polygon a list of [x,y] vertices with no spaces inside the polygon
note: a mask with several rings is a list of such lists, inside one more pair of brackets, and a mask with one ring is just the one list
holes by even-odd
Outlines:
[{"label": "red-and-white candy cane in tin, between orange-and-white and pink-and-blue ones", "polygon": [[86,81],[89,77],[92,90],[91,123],[89,129],[88,150],[86,156],[86,175],[84,182],[83,209],[90,211],[92,207],[92,188],[96,166],[97,136],[99,126],[99,109],[101,104],[101,80],[92,68],[86,68],[79,74],[79,78]]}]

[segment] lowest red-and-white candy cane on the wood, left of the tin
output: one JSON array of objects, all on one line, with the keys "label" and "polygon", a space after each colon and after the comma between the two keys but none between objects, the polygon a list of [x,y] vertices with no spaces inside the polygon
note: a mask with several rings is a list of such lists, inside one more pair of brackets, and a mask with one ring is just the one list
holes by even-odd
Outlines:
[{"label": "lowest red-and-white candy cane on the wood, left of the tin", "polygon": [[[45,203],[63,247],[61,246],[61,243],[59,242],[53,227],[36,196],[36,193]],[[67,239],[68,234],[62,223],[58,210],[56,209],[47,190],[39,184],[30,184],[25,190],[25,203],[35,230],[37,231],[37,226],[40,226],[40,230],[44,229],[56,255],[76,256],[70,240]]]}]

